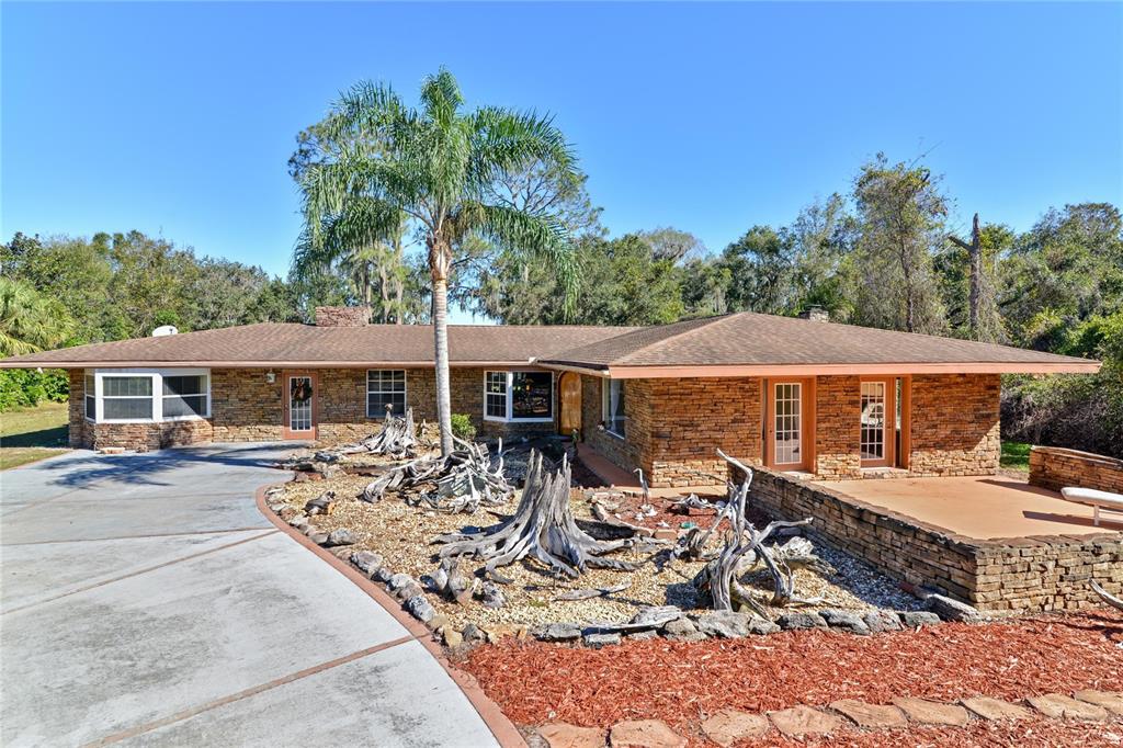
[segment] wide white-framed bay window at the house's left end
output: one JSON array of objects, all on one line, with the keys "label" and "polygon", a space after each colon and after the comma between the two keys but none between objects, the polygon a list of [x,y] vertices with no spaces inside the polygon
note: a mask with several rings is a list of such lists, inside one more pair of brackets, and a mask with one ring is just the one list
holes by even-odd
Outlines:
[{"label": "wide white-framed bay window at the house's left end", "polygon": [[210,418],[210,370],[88,370],[85,417],[99,423]]}]

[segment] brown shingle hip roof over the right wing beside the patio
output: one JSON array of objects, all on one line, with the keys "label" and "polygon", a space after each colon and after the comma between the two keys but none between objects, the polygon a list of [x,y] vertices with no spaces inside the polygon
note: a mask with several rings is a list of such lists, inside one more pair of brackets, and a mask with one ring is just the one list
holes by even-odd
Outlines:
[{"label": "brown shingle hip roof over the right wing beside the patio", "polygon": [[655,366],[1008,364],[1095,366],[974,340],[740,312],[688,320],[544,356],[542,363],[617,370]]}]

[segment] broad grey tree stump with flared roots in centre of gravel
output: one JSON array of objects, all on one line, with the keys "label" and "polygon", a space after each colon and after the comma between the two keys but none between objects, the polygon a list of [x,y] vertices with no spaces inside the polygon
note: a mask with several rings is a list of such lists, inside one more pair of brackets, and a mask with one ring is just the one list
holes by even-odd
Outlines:
[{"label": "broad grey tree stump with flared roots in centre of gravel", "polygon": [[485,574],[509,583],[495,569],[528,556],[553,572],[577,577],[587,567],[633,571],[633,564],[603,558],[604,554],[627,547],[630,540],[596,540],[585,533],[569,509],[570,467],[568,457],[557,473],[542,468],[542,456],[530,453],[527,484],[519,505],[510,518],[477,532],[454,532],[437,538],[446,544],[441,558],[473,556],[486,559]]}]

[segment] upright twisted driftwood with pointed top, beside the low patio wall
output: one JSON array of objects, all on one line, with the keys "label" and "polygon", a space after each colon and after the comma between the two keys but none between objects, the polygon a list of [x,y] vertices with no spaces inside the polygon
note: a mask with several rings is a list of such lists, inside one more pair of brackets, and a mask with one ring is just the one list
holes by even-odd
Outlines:
[{"label": "upright twisted driftwood with pointed top, beside the low patio wall", "polygon": [[[785,563],[785,553],[777,553],[776,548],[765,546],[765,540],[772,537],[777,530],[789,527],[802,527],[809,524],[811,519],[797,522],[769,522],[764,529],[758,530],[745,517],[745,509],[749,498],[749,486],[752,483],[752,471],[733,459],[725,453],[718,450],[718,455],[730,465],[745,474],[745,481],[740,484],[730,482],[730,499],[725,508],[718,513],[716,521],[704,535],[700,535],[700,540],[695,546],[701,548],[707,538],[727,517],[732,524],[732,530],[727,533],[725,545],[709,564],[694,577],[694,586],[700,592],[707,593],[714,610],[733,610],[734,602],[745,605],[759,615],[765,615],[764,608],[754,600],[752,595],[738,582],[738,576],[742,573],[742,559],[749,554],[752,556],[748,562],[751,568],[758,564],[764,564],[773,576],[774,590],[772,605],[784,608],[793,603],[813,603],[812,600],[801,600],[795,596],[794,578],[791,567]],[[810,546],[810,542],[806,544]],[[793,551],[796,549],[793,548]],[[800,553],[804,553],[803,544],[800,544]]]}]

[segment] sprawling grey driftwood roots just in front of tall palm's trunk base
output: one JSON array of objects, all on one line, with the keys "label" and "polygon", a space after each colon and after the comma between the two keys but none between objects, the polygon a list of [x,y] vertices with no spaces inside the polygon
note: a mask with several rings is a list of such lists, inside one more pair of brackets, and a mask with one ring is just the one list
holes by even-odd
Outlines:
[{"label": "sprawling grey driftwood roots just in front of tall palm's trunk base", "polygon": [[454,437],[459,449],[448,457],[421,457],[399,465],[372,481],[359,499],[381,501],[386,491],[414,489],[435,483],[430,491],[419,493],[412,503],[441,512],[472,513],[481,505],[499,507],[514,494],[514,487],[503,477],[503,443],[493,460],[484,444],[469,444]]}]

